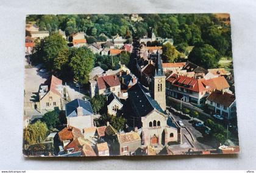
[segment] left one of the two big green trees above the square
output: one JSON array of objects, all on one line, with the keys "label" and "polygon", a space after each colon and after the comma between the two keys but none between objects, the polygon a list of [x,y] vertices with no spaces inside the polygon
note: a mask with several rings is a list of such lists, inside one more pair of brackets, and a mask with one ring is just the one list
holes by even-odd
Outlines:
[{"label": "left one of the two big green trees above the square", "polygon": [[67,47],[65,39],[59,33],[53,33],[41,42],[43,61],[49,70],[54,69],[54,59]]}]

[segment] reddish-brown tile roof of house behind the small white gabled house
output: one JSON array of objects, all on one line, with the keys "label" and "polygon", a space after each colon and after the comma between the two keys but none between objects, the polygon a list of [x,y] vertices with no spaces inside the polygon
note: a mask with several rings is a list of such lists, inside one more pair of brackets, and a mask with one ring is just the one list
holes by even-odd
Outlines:
[{"label": "reddish-brown tile roof of house behind the small white gabled house", "polygon": [[99,89],[106,89],[108,87],[121,85],[116,75],[101,76],[97,78]]}]

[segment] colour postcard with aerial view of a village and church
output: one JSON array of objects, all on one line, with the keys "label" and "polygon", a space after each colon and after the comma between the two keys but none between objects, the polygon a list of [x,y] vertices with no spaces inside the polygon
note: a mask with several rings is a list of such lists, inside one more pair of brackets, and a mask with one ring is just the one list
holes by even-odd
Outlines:
[{"label": "colour postcard with aerial view of a village and church", "polygon": [[240,152],[227,13],[27,15],[24,48],[24,157]]}]

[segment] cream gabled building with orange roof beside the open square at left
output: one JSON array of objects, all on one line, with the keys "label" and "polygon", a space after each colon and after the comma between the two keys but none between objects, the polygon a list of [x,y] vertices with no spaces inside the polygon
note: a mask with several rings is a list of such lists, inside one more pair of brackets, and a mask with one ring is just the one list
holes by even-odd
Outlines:
[{"label": "cream gabled building with orange roof beside the open square at left", "polygon": [[62,80],[52,75],[45,84],[40,86],[39,104],[35,104],[35,109],[41,112],[41,110],[54,110],[55,107],[60,110],[65,109]]}]

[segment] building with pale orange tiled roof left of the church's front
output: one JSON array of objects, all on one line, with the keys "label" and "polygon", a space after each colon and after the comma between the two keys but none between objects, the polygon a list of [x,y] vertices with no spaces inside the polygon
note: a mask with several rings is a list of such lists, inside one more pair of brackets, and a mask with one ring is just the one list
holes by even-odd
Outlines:
[{"label": "building with pale orange tiled roof left of the church's front", "polygon": [[135,155],[135,151],[141,148],[141,138],[137,132],[118,133],[118,155]]}]

